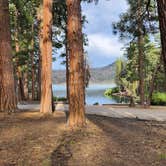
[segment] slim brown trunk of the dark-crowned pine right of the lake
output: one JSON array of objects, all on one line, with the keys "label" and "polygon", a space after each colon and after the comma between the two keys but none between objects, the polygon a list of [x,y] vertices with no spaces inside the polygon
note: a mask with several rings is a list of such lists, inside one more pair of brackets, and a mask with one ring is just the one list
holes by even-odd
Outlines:
[{"label": "slim brown trunk of the dark-crowned pine right of the lake", "polygon": [[140,104],[144,105],[144,36],[142,19],[142,2],[138,0],[138,59],[139,59],[139,94]]}]

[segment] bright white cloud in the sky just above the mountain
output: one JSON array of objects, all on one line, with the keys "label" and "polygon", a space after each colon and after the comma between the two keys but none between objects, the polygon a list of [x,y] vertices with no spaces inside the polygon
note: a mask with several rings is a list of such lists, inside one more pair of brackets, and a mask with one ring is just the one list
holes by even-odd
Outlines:
[{"label": "bright white cloud in the sky just above the mountain", "polygon": [[102,33],[88,35],[89,46],[87,50],[89,54],[100,54],[104,57],[120,57],[123,55],[121,50],[123,44],[121,44],[116,37],[106,36]]}]

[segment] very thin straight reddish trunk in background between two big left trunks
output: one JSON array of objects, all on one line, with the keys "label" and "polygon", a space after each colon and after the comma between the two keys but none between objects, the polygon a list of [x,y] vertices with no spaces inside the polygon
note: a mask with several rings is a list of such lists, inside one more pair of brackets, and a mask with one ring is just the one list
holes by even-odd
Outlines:
[{"label": "very thin straight reddish trunk in background between two big left trunks", "polygon": [[32,100],[35,100],[35,65],[34,65],[34,25],[32,24],[32,39],[31,39],[31,78],[32,78]]}]

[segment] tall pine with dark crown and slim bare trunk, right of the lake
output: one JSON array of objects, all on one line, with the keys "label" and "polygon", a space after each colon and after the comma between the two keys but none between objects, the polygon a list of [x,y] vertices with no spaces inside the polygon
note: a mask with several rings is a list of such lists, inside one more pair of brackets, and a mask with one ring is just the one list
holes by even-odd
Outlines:
[{"label": "tall pine with dark crown and slim bare trunk, right of the lake", "polygon": [[[145,102],[145,42],[144,38],[147,34],[154,34],[158,27],[155,8],[150,3],[149,11],[146,11],[148,0],[128,0],[129,9],[126,13],[120,16],[120,21],[113,24],[114,32],[119,32],[120,38],[137,43],[138,56],[138,76],[139,76],[139,96],[140,104]],[[149,3],[148,3],[149,4]],[[154,23],[154,24],[151,24]]]}]

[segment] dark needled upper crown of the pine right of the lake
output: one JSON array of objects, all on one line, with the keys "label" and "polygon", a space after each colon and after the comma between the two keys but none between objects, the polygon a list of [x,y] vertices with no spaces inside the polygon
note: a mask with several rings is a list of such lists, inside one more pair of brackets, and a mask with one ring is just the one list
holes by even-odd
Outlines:
[{"label": "dark needled upper crown of the pine right of the lake", "polygon": [[[150,1],[150,5],[147,10],[148,0],[142,0],[141,7],[139,7],[138,1],[127,0],[129,9],[127,12],[120,15],[120,21],[113,23],[113,32],[119,33],[121,39],[135,40],[139,36],[139,19],[143,20],[143,33],[156,33],[158,32],[158,24],[156,21],[158,17],[156,15],[156,3],[154,0]],[[141,15],[138,13],[141,8]]]}]

